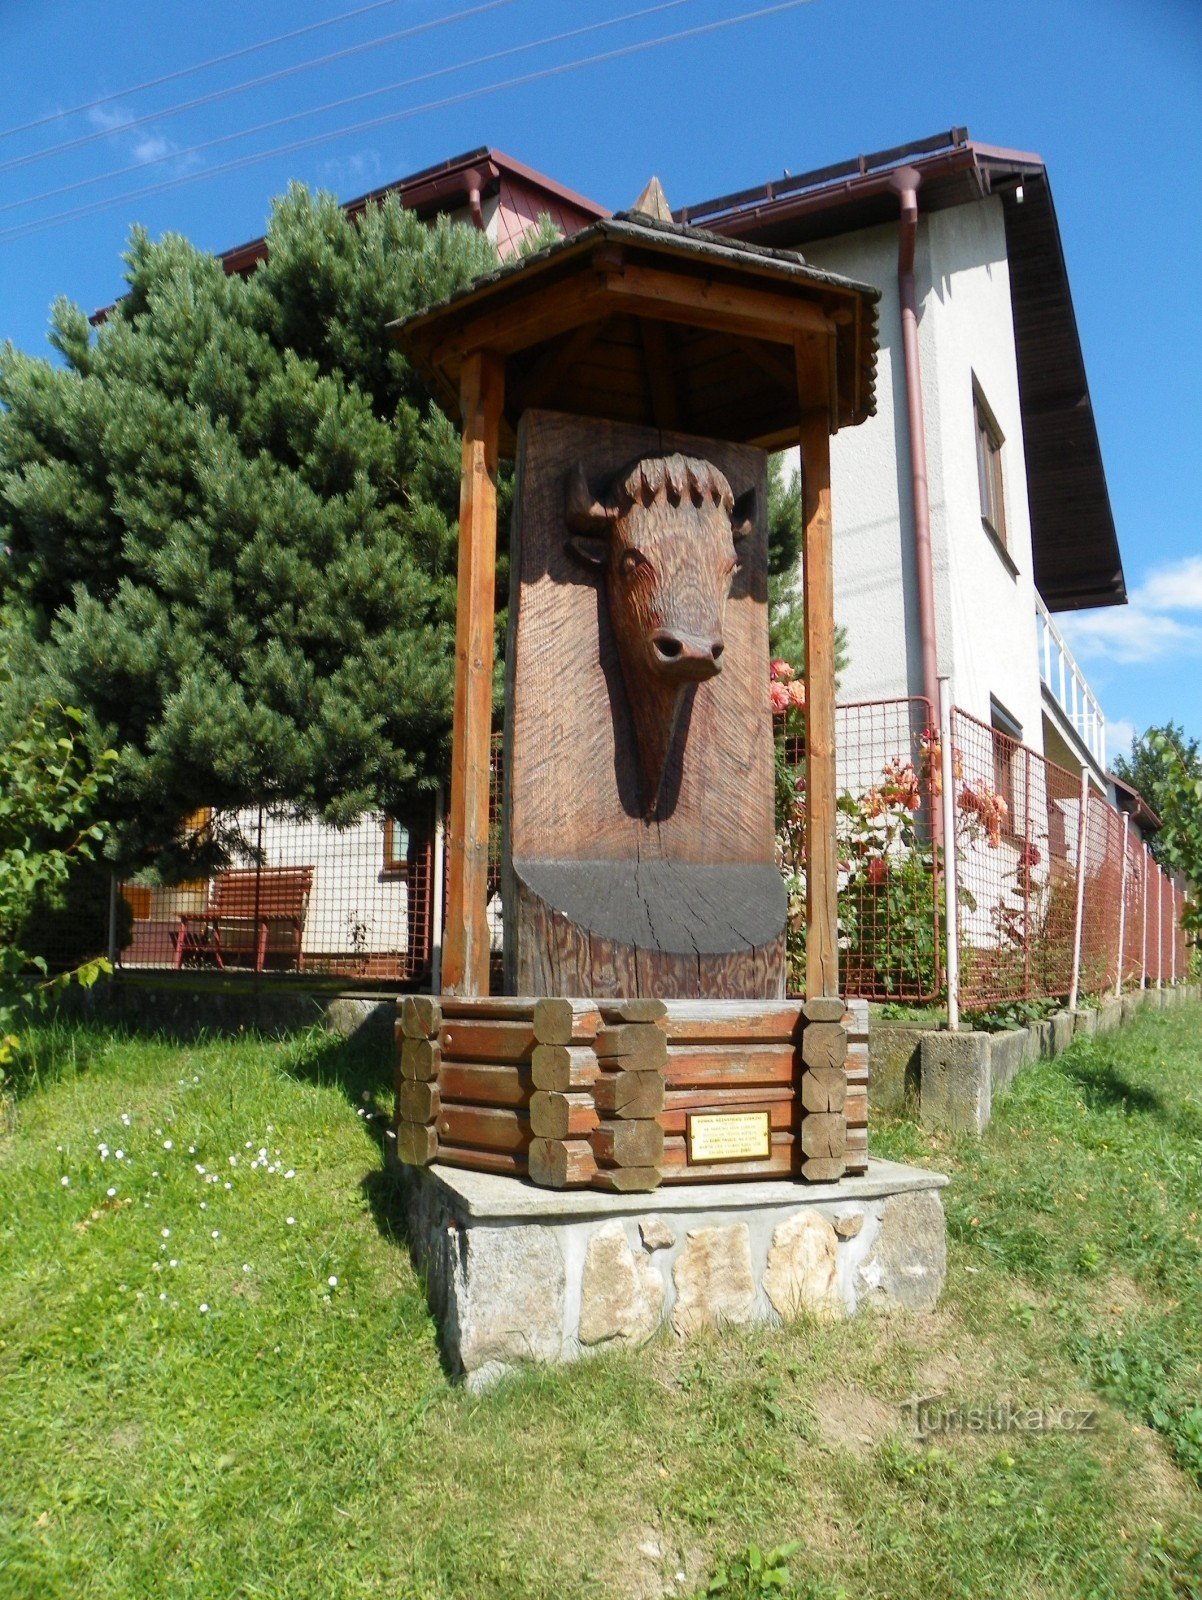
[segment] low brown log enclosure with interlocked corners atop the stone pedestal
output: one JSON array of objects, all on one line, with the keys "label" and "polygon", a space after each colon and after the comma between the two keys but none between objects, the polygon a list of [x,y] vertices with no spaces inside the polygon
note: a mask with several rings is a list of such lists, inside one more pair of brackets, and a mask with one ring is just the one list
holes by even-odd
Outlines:
[{"label": "low brown log enclosure with interlocked corners atop the stone pedestal", "polygon": [[[407,1165],[611,1192],[867,1166],[867,1038],[842,1000],[408,995],[399,1037]],[[768,1157],[691,1165],[688,1117],[746,1110]]]}]

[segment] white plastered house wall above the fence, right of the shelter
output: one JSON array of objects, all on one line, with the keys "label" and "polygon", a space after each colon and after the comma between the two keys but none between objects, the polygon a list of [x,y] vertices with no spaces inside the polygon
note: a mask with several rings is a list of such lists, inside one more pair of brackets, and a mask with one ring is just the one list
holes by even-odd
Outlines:
[{"label": "white plastered house wall above the fence, right of the shelter", "polygon": [[[805,248],[816,267],[880,290],[877,414],[831,442],[835,619],[847,632],[842,702],[922,693],[906,371],[895,224]],[[1013,312],[999,200],[922,216],[916,248],[940,674],[989,720],[994,694],[1042,741],[1031,520]],[[1004,434],[1007,566],[981,525],[973,373]],[[797,453],[791,453],[795,470]]]}]

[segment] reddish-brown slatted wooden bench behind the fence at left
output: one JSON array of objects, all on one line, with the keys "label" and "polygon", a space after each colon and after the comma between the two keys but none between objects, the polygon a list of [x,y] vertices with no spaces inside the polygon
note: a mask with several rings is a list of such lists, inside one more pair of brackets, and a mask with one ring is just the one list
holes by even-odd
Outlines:
[{"label": "reddish-brown slatted wooden bench behind the fence at left", "polygon": [[304,918],[312,867],[235,867],[219,872],[202,912],[181,912],[174,965],[187,957],[211,957],[224,971],[226,957],[254,949],[254,971],[274,954],[288,954],[304,971]]}]

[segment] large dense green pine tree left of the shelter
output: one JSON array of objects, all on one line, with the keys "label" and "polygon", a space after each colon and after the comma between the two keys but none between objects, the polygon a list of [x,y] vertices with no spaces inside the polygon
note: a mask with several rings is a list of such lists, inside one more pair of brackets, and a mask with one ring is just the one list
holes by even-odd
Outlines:
[{"label": "large dense green pine tree left of the shelter", "polygon": [[496,256],[301,187],[267,251],[243,280],[134,232],[98,334],[58,302],[62,365],[0,354],[8,610],[120,752],[126,861],[200,803],[341,821],[447,766],[458,438],[384,325]]}]

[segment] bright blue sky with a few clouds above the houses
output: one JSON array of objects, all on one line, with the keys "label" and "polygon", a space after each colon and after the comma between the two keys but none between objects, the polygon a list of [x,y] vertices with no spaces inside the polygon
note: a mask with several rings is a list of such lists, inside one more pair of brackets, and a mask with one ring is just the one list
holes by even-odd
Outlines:
[{"label": "bright blue sky with a few clouds above the houses", "polygon": [[[984,142],[1040,154],[1060,216],[1132,595],[1127,608],[1066,619],[1064,629],[1119,741],[1167,717],[1202,734],[1202,3],[807,0],[490,91],[771,3],[675,0],[461,66],[655,3],[3,0],[0,130],[56,120],[0,136],[0,336],[45,350],[56,294],[88,310],[112,301],[133,221],[222,250],[262,232],[270,197],[291,178],[347,198],[491,144],[611,206],[629,205],[653,171],[671,203],[685,205],[967,125]],[[360,14],[336,26],[125,93],[352,10]],[[447,21],[461,11],[474,14]],[[424,24],[435,26],[413,32]],[[394,86],[415,78],[424,82]],[[373,90],[386,93],[312,115]],[[56,117],[101,96],[112,98]],[[431,107],[447,98],[458,102]],[[208,102],[168,115],[192,99]],[[298,112],[306,115],[226,138]],[[392,120],[335,138],[381,117]],[[216,171],[298,139],[317,142]],[[26,160],[67,141],[70,149]],[[115,176],[120,168],[130,171]],[[86,179],[98,181],[74,187]],[[32,226],[165,184],[173,187]],[[50,190],[62,192],[35,202]]]}]

